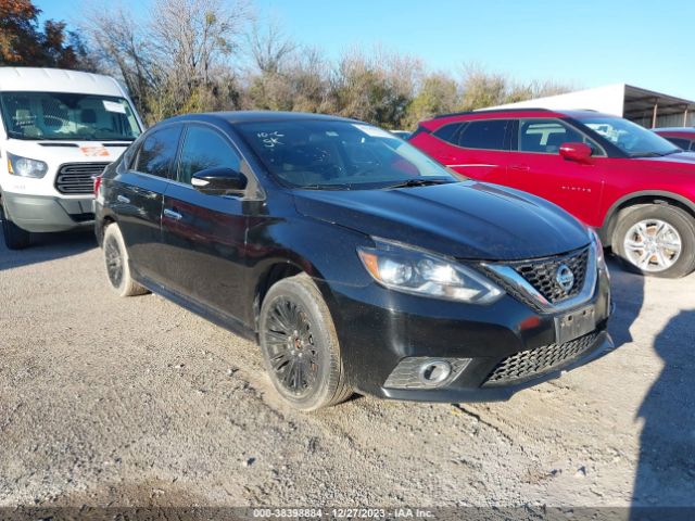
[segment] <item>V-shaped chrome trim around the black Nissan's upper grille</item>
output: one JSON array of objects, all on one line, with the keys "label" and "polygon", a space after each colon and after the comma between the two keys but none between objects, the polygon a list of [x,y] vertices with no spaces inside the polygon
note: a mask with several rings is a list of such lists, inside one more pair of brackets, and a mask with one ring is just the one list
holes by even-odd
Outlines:
[{"label": "V-shaped chrome trim around the black Nissan's upper grille", "polygon": [[596,265],[596,243],[591,242],[589,258],[586,260],[586,277],[584,278],[584,287],[577,295],[566,301],[553,304],[548,302],[531,283],[517,272],[511,266],[504,264],[482,263],[481,266],[494,272],[505,280],[515,290],[528,295],[543,313],[552,314],[566,312],[573,307],[581,306],[591,301],[596,291],[596,280],[598,279],[598,266]]}]

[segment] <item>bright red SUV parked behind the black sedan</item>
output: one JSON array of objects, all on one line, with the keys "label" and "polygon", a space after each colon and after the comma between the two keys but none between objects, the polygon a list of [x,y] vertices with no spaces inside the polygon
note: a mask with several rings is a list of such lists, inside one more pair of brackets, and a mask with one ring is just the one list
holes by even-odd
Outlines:
[{"label": "bright red SUV parked behind the black sedan", "polygon": [[422,122],[409,141],[466,177],[554,202],[644,275],[695,269],[695,153],[634,123],[593,111],[481,111]]}]

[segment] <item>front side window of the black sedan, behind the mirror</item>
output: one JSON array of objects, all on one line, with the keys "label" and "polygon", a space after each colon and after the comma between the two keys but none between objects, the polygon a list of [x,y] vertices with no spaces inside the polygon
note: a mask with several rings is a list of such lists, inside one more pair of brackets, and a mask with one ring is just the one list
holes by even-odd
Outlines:
[{"label": "front side window of the black sedan, behind the mirror", "polygon": [[190,185],[193,174],[206,168],[239,170],[240,166],[241,158],[219,132],[198,125],[188,128],[178,170],[180,182]]}]

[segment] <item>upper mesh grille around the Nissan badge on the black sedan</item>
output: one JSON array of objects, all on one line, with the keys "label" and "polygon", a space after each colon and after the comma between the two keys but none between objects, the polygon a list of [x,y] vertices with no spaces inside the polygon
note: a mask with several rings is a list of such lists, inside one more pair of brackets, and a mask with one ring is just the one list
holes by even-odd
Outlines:
[{"label": "upper mesh grille around the Nissan badge on the black sedan", "polygon": [[[556,304],[576,296],[584,288],[589,252],[590,249],[584,247],[564,256],[517,263],[513,265],[513,268],[551,304]],[[569,291],[560,287],[556,280],[557,270],[561,265],[566,265],[574,276],[574,284]]]}]

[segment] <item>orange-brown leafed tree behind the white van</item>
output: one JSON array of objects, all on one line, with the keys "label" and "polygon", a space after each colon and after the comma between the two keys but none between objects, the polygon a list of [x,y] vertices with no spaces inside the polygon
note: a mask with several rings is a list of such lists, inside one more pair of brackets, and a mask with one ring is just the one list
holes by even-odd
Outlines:
[{"label": "orange-brown leafed tree behind the white van", "polygon": [[94,69],[79,35],[47,20],[30,0],[0,0],[0,65]]}]

